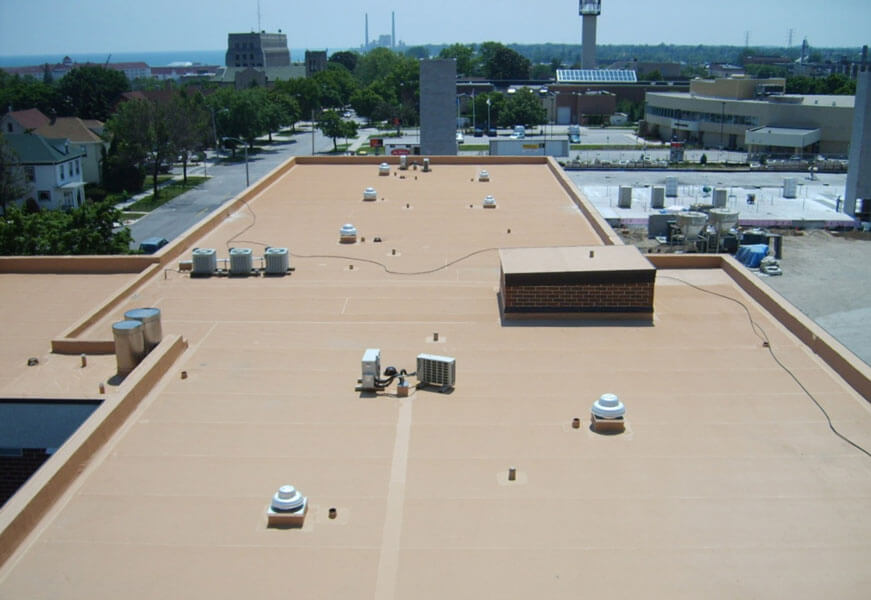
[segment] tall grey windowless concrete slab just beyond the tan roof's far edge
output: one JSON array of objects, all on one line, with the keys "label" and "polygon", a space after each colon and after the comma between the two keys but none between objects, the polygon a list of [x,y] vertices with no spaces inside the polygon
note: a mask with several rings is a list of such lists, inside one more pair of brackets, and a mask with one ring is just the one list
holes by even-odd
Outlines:
[{"label": "tall grey windowless concrete slab just beyond the tan roof's far edge", "polygon": [[457,61],[420,61],[420,152],[457,154]]}]

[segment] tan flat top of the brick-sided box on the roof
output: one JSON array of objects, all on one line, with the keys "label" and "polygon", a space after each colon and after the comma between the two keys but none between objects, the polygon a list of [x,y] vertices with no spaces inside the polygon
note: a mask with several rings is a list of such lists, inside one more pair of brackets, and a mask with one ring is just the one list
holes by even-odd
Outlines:
[{"label": "tan flat top of the brick-sided box on the roof", "polygon": [[506,274],[653,270],[634,246],[515,248],[500,250],[499,258]]}]

